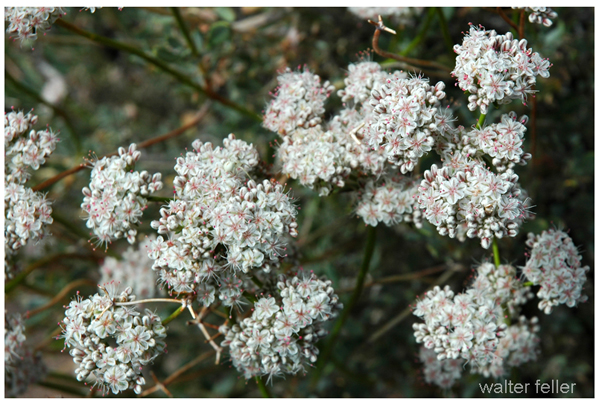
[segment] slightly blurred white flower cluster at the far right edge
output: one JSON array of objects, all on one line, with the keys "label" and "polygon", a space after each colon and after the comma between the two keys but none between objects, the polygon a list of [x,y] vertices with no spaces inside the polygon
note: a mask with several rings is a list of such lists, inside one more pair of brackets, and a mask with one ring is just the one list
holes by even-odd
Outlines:
[{"label": "slightly blurred white flower cluster at the far right edge", "polygon": [[530,258],[522,268],[524,276],[541,288],[539,309],[550,314],[553,307],[576,306],[588,297],[582,294],[589,266],[582,266],[582,256],[567,233],[551,229],[541,235],[528,234],[526,245]]}]

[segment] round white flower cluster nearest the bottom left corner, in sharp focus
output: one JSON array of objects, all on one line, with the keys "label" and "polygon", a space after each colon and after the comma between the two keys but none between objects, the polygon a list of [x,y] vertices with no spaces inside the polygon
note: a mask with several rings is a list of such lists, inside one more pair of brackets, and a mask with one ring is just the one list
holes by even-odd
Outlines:
[{"label": "round white flower cluster nearest the bottom left corner, in sharp focus", "polygon": [[135,295],[130,287],[119,294],[117,286],[105,284],[104,294],[88,299],[77,295],[66,307],[62,337],[79,365],[78,381],[103,392],[118,394],[129,388],[139,394],[145,384],[142,366],[164,352],[166,329],[149,309],[142,316],[135,306],[126,305]]}]

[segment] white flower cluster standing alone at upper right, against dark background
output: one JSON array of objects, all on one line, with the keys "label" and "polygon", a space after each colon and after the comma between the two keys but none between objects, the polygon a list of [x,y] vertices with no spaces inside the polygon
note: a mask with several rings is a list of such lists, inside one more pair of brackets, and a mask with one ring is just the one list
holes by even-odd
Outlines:
[{"label": "white flower cluster standing alone at upper right, against dark background", "polygon": [[526,101],[533,93],[536,77],[549,77],[551,63],[527,48],[526,39],[518,41],[511,33],[497,35],[494,30],[470,27],[457,53],[452,72],[460,89],[470,93],[468,108],[486,114],[489,104]]}]

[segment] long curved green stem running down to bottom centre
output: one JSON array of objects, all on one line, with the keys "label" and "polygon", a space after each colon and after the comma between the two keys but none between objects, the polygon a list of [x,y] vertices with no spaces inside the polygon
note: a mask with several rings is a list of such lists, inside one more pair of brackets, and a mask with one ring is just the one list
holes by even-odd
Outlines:
[{"label": "long curved green stem running down to bottom centre", "polygon": [[374,253],[375,242],[376,242],[376,227],[369,226],[368,234],[366,236],[366,248],[364,249],[364,258],[362,260],[362,267],[360,268],[360,273],[358,274],[358,278],[356,280],[356,286],[355,286],[354,291],[349,299],[349,302],[343,308],[343,312],[341,313],[341,316],[335,323],[335,326],[333,327],[333,330],[331,331],[331,336],[329,337],[328,341],[326,342],[326,345],[322,351],[322,354],[320,355],[320,358],[318,359],[318,362],[316,364],[316,370],[314,370],[314,374],[312,377],[312,383],[311,383],[312,388],[316,387],[316,384],[318,383],[318,380],[320,379],[320,376],[324,370],[324,367],[326,366],[327,362],[329,361],[329,358],[331,357],[331,353],[333,351],[333,346],[335,345],[337,337],[339,336],[339,333],[341,332],[341,329],[343,328],[345,321],[349,317],[351,310],[354,308],[354,306],[358,302],[358,299],[360,298],[360,294],[362,293],[362,289],[364,288],[364,280],[366,279],[366,274],[368,274],[368,270],[370,268],[370,260],[372,259],[372,255]]}]

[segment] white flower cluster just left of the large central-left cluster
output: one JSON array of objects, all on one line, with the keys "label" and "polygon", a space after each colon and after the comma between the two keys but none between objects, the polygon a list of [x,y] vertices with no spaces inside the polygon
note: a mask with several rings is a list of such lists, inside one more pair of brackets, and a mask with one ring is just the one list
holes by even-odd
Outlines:
[{"label": "white flower cluster just left of the large central-left cluster", "polygon": [[81,208],[86,212],[86,226],[93,230],[98,244],[108,247],[113,239],[126,237],[135,242],[142,211],[148,200],[145,196],[162,188],[162,175],[134,171],[141,152],[132,143],[120,147],[118,156],[93,161],[89,188],[83,188]]}]

